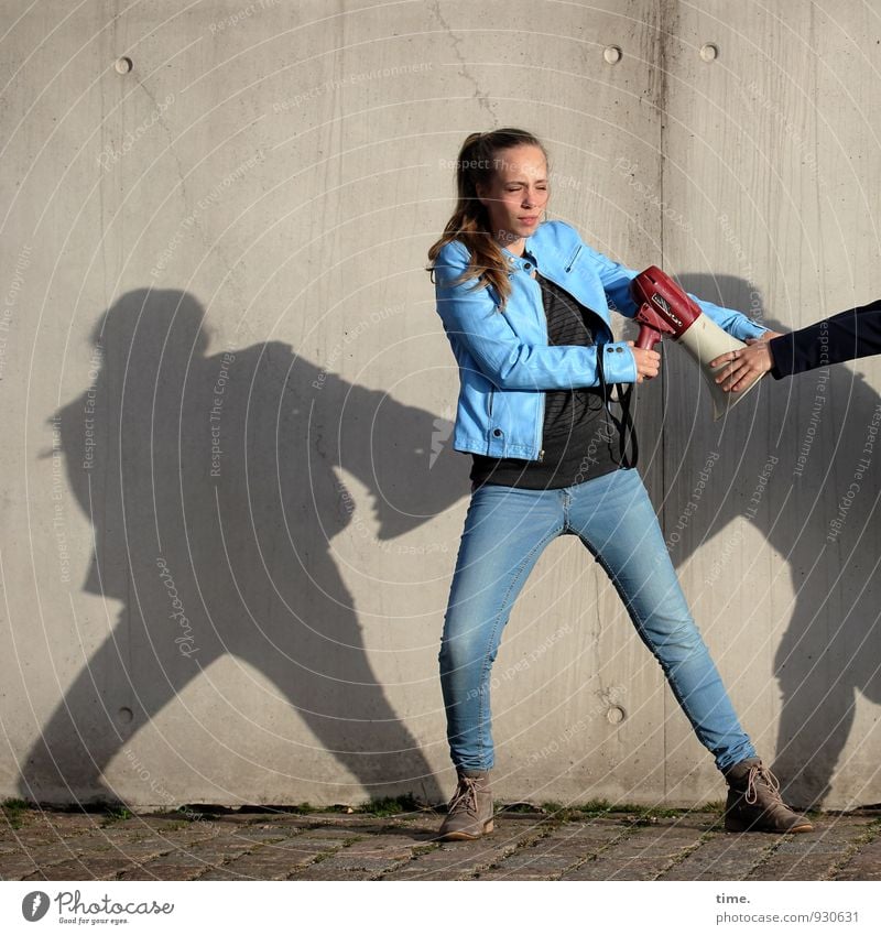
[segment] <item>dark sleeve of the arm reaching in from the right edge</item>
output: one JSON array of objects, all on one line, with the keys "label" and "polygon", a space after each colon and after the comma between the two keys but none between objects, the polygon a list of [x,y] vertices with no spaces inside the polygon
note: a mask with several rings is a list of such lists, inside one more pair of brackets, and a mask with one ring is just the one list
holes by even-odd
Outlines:
[{"label": "dark sleeve of the arm reaching in from the right edge", "polygon": [[881,354],[881,298],[770,341],[777,380]]}]

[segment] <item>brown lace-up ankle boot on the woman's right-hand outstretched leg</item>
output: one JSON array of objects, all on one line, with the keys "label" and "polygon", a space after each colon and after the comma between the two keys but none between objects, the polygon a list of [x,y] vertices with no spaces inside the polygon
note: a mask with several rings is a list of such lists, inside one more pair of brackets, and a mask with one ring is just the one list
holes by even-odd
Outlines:
[{"label": "brown lace-up ankle boot on the woman's right-hand outstretched leg", "polygon": [[728,802],[725,807],[727,831],[813,831],[804,815],[797,815],[780,796],[777,778],[758,757],[742,760],[725,771]]}]

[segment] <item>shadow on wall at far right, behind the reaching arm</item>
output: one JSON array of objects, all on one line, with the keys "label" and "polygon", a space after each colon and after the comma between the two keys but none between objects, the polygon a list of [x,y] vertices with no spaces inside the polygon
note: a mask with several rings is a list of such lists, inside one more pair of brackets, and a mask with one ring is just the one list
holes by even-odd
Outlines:
[{"label": "shadow on wall at far right, behind the reaching arm", "polygon": [[[743,280],[684,275],[681,282],[701,298],[740,308],[773,330],[792,329],[764,317],[761,296]],[[694,399],[698,388],[692,384],[699,377],[678,349],[668,348],[667,355],[668,366],[679,374],[668,391],[670,412],[677,395]],[[689,446],[706,444],[707,457],[719,457],[711,461],[711,481],[687,520],[687,534],[675,541],[671,554],[682,568],[700,548],[706,570],[698,590],[722,589],[743,609],[737,668],[725,666],[728,671],[754,670],[768,657],[769,646],[776,646],[773,674],[783,707],[772,769],[790,800],[802,806],[823,803],[848,742],[853,763],[864,764],[864,785],[851,786],[852,798],[868,804],[879,797],[877,768],[869,764],[878,762],[881,738],[851,736],[857,696],[881,703],[881,398],[855,372],[859,363],[784,380],[769,376],[715,425],[708,399],[700,401],[695,425],[677,420],[676,436],[686,437]],[[694,470],[698,461],[703,465],[704,453],[692,455]],[[670,461],[668,543],[675,515],[688,503],[696,481],[693,471],[676,472],[675,455],[672,469]],[[753,556],[741,541],[748,525],[787,563],[788,583],[768,583],[762,559],[750,565]],[[758,705],[739,713],[748,731],[764,728]]]}]

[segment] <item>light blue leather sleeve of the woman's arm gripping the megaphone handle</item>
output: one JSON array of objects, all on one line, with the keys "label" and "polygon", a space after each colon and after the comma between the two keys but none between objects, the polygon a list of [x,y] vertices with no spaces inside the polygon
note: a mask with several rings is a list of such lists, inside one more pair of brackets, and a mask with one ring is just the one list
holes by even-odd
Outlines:
[{"label": "light blue leather sleeve of the woman's arm gripping the megaphone handle", "polygon": [[[480,372],[503,390],[570,390],[596,387],[597,348],[577,345],[529,345],[497,311],[486,287],[476,278],[453,285],[468,260],[465,249],[442,250],[434,267],[437,312],[450,341],[468,350]],[[632,383],[637,362],[626,343],[603,345],[607,382]]]}]

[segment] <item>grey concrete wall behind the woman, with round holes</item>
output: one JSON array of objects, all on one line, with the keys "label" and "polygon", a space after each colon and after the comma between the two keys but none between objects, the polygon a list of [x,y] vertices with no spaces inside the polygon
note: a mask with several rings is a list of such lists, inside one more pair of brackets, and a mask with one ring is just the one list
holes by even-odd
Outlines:
[{"label": "grey concrete wall behind the woman, with round holes", "polygon": [[[860,0],[7,9],[3,796],[449,794],[469,465],[423,267],[468,132],[537,132],[551,217],[769,325],[878,295]],[[879,365],[714,424],[664,360],[644,474],[744,727],[795,801],[878,802]],[[722,796],[570,537],[494,675],[500,797]]]}]

